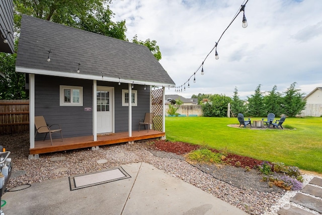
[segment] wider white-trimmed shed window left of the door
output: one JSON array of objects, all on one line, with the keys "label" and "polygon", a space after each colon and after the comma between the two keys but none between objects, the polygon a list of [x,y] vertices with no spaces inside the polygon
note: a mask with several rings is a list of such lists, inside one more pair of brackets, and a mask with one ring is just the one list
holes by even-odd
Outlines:
[{"label": "wider white-trimmed shed window left of the door", "polygon": [[83,87],[59,86],[60,106],[83,106]]}]

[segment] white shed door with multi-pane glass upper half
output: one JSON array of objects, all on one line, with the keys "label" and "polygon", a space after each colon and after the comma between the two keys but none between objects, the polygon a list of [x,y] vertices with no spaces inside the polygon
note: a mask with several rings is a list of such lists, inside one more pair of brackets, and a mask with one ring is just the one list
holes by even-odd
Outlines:
[{"label": "white shed door with multi-pane glass upper half", "polygon": [[113,88],[97,87],[97,133],[113,132]]}]

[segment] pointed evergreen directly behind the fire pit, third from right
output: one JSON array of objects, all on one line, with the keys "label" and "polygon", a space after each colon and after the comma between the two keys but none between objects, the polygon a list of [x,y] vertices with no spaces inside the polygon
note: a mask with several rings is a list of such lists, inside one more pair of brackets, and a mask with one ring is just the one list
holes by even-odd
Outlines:
[{"label": "pointed evergreen directly behind the fire pit, third from right", "polygon": [[267,115],[264,107],[264,97],[261,92],[261,85],[258,85],[255,94],[248,97],[248,115],[259,117]]}]

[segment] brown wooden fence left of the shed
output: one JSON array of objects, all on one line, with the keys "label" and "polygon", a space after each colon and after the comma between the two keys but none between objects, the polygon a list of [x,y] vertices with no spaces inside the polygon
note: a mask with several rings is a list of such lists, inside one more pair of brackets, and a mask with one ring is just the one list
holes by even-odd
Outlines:
[{"label": "brown wooden fence left of the shed", "polygon": [[0,135],[29,130],[29,100],[0,100]]}]

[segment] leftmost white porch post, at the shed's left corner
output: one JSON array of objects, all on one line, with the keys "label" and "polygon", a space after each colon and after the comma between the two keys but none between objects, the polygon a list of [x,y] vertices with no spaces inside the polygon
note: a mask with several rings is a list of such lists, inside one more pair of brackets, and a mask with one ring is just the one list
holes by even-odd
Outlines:
[{"label": "leftmost white porch post, at the shed's left corner", "polygon": [[29,74],[29,141],[35,148],[35,74]]}]

